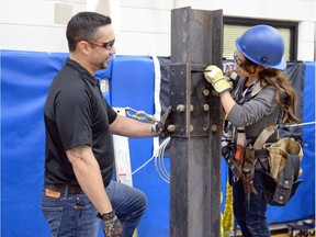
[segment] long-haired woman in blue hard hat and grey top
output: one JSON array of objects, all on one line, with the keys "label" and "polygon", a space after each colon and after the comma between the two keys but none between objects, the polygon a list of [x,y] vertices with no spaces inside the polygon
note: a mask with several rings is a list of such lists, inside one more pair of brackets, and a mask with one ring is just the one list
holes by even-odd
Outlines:
[{"label": "long-haired woman in blue hard hat and grey top", "polygon": [[[236,144],[235,159],[242,174],[233,182],[234,215],[244,237],[269,237],[267,203],[262,188],[262,169],[269,168],[264,147],[253,149],[258,136],[270,125],[297,123],[295,90],[283,70],[284,43],[269,25],[247,30],[236,42],[234,53],[239,77],[229,82],[219,68],[208,66],[205,78],[219,93]],[[275,142],[276,135],[267,142]],[[252,153],[251,153],[252,151]]]}]

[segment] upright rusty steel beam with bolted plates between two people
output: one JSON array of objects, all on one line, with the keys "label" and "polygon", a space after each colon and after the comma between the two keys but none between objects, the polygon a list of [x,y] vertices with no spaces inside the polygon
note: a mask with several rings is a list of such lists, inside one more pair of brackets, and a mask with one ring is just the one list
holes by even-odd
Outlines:
[{"label": "upright rusty steel beam with bolted plates between two people", "polygon": [[170,236],[221,236],[219,98],[204,68],[222,67],[223,11],[171,11]]}]

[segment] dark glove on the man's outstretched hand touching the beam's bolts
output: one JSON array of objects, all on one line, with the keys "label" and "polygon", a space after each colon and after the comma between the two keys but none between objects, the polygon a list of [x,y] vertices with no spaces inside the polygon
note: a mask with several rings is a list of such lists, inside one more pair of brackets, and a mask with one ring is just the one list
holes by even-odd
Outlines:
[{"label": "dark glove on the man's outstretched hand touching the beam's bolts", "polygon": [[174,132],[174,125],[170,125],[170,116],[172,114],[172,106],[168,106],[167,111],[161,116],[161,120],[155,123],[151,127],[151,135],[159,137],[168,137]]}]

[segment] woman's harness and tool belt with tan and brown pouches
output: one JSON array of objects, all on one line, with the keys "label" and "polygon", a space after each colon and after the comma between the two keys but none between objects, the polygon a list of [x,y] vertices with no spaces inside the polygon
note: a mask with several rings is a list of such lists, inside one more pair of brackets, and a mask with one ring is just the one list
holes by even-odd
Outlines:
[{"label": "woman's harness and tool belt with tan and brown pouches", "polygon": [[[236,91],[238,91],[242,84],[244,81],[240,81],[239,78],[239,81],[237,81],[236,84]],[[238,98],[238,94],[236,93],[235,100],[238,101],[239,104],[242,104],[256,97],[261,89],[262,86],[258,80],[242,92],[241,98]],[[222,149],[222,154],[234,174],[234,180],[237,181],[240,178],[244,183],[248,203],[250,201],[250,194],[258,193],[252,182],[255,169],[257,167],[263,168],[264,198],[267,203],[270,203],[271,205],[285,205],[303,181],[297,180],[300,160],[303,158],[302,147],[298,143],[294,142],[292,138],[283,138],[278,142],[279,144],[272,144],[268,149],[264,147],[276,128],[276,124],[266,127],[257,137],[253,145],[250,146],[247,144],[245,127],[237,127],[235,132],[237,136],[235,139],[236,143],[228,143]],[[295,146],[293,143],[295,143]],[[290,150],[290,147],[292,150]],[[279,166],[280,169],[276,171],[278,174],[275,174],[275,167],[278,167],[275,165],[275,154],[280,155],[279,161],[283,162],[283,167]],[[271,176],[270,169],[274,174],[272,172]]]}]

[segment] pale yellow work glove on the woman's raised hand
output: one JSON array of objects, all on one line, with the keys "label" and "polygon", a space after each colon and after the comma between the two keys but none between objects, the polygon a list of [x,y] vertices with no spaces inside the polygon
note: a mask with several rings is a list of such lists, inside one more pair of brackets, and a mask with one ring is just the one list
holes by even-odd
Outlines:
[{"label": "pale yellow work glove on the woman's raised hand", "polygon": [[223,93],[224,91],[230,91],[233,89],[232,84],[223,75],[223,71],[215,65],[210,65],[205,68],[204,77],[212,83],[217,93]]}]

